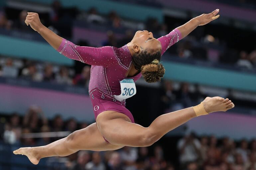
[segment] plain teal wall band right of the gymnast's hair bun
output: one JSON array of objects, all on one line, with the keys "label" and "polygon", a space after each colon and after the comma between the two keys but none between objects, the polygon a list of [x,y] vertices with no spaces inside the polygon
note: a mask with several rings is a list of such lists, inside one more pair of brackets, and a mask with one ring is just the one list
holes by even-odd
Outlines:
[{"label": "plain teal wall band right of the gymnast's hair bun", "polygon": [[165,62],[164,78],[256,92],[256,75],[191,64]]}]

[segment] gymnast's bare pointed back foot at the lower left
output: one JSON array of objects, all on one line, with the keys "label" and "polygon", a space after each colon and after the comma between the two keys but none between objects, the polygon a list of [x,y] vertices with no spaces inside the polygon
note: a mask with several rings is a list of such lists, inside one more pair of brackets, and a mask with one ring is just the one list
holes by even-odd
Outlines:
[{"label": "gymnast's bare pointed back foot at the lower left", "polygon": [[14,154],[22,154],[26,155],[30,162],[37,165],[40,161],[40,158],[38,157],[38,154],[36,153],[34,148],[28,147],[28,148],[20,148],[13,151]]}]

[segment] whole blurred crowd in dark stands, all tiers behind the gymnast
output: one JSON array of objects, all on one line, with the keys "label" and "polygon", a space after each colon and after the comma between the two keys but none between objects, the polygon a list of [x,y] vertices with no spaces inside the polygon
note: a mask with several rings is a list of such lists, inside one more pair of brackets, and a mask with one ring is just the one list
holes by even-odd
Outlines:
[{"label": "whole blurred crowd in dark stands, all tiers behind the gymnast", "polygon": [[[102,13],[96,7],[81,10],[78,6],[66,7],[62,1],[50,2],[50,5],[46,5],[43,2],[6,0],[2,6],[0,3],[0,35],[45,43],[40,35],[24,23],[27,12],[33,10],[39,13],[41,22],[45,26],[77,45],[122,47],[130,42],[137,30],[147,29],[152,31],[154,37],[157,38],[201,14],[186,10],[184,13],[187,17],[177,18],[175,16],[182,14],[169,10],[170,14],[174,15],[165,16],[163,22],[154,17],[141,21],[140,16],[134,19],[121,17],[118,9]],[[115,2],[119,3],[113,0],[113,3]],[[149,9],[165,9],[162,4],[164,0],[122,0],[121,2],[148,6]],[[208,2],[223,3],[226,6],[234,6],[235,9],[256,10],[256,3],[253,0],[208,0]],[[168,13],[168,10],[165,10]],[[232,18],[225,19],[217,24],[198,27],[188,37],[172,46],[162,60],[255,75],[256,26],[249,21],[238,22]],[[79,32],[79,27],[86,28],[86,34]],[[104,33],[97,33],[95,37],[97,31]],[[80,38],[83,36],[89,38]],[[19,47],[13,47],[13,50],[19,51]],[[38,53],[44,53],[40,49],[37,50]],[[0,52],[0,85],[8,85],[13,80],[17,80],[23,83],[23,87],[34,82],[37,83],[36,88],[47,87],[49,91],[53,90],[51,88],[54,85],[57,88],[87,89],[89,78],[90,65],[78,61],[72,65],[66,65],[45,61],[42,58],[31,59],[26,56],[17,57]],[[30,85],[27,86],[30,87]],[[138,93],[132,99],[133,101],[127,102],[127,107],[134,114],[135,121],[143,126],[147,126],[156,116],[163,113],[197,105],[206,96],[228,97],[235,103],[238,114],[251,114],[252,116],[256,114],[255,91],[243,92],[232,88],[216,88],[193,83],[193,81],[171,79],[164,79],[156,87],[138,82],[137,88],[144,94],[155,93],[155,98],[152,95],[148,99],[144,99],[145,96]],[[33,96],[33,94],[30,95]],[[154,109],[138,109],[136,105],[138,101],[145,107],[151,102]],[[251,139],[234,140],[229,136],[217,138],[217,134],[197,135],[188,131],[186,125],[182,127],[184,133],[164,137],[150,147],[124,147],[105,152],[82,150],[66,157],[44,158],[41,164],[32,166],[26,157],[12,157],[11,150],[20,146],[47,145],[65,136],[58,136],[58,132],[69,134],[92,123],[91,120],[80,121],[76,117],[71,117],[72,113],[69,119],[66,119],[63,118],[61,112],[45,114],[44,110],[45,108],[41,106],[31,104],[26,112],[12,112],[11,110],[8,113],[0,112],[0,170],[32,168],[49,170],[256,170],[256,140],[253,139],[256,135],[253,129]],[[49,114],[52,116],[47,116]],[[48,135],[46,137],[42,134],[36,136],[35,134],[38,133]],[[10,158],[9,161],[5,161],[6,157]]]}]

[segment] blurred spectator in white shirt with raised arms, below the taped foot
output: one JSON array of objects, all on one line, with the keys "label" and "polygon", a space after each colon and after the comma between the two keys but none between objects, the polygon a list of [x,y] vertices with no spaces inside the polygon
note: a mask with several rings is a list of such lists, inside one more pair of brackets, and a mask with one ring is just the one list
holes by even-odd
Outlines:
[{"label": "blurred spectator in white shirt with raised arms, below the taped foot", "polygon": [[194,133],[190,133],[178,141],[180,162],[183,168],[185,168],[189,162],[198,160],[200,156],[200,146],[200,142],[195,138]]}]

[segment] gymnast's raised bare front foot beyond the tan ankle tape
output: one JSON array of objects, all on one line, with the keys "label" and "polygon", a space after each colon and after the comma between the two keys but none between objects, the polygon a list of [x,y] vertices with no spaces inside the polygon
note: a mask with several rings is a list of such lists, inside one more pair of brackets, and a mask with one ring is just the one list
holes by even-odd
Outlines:
[{"label": "gymnast's raised bare front foot beyond the tan ankle tape", "polygon": [[235,106],[231,100],[222,97],[206,97],[202,104],[207,113],[227,111]]}]

